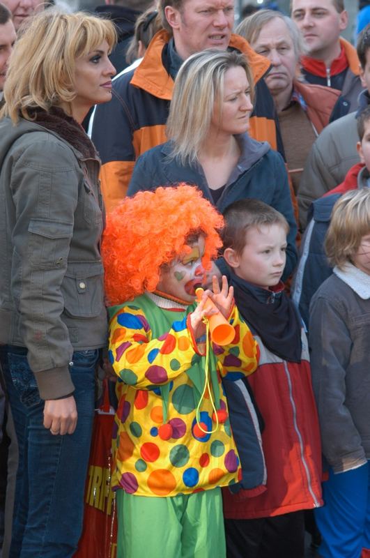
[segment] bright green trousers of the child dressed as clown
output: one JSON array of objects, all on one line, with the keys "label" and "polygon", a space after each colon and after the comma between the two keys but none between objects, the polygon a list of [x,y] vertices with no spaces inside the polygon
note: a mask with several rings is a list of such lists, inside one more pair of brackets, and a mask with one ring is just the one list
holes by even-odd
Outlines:
[{"label": "bright green trousers of the child dressed as clown", "polygon": [[117,558],[225,558],[220,488],[172,497],[116,492]]}]

